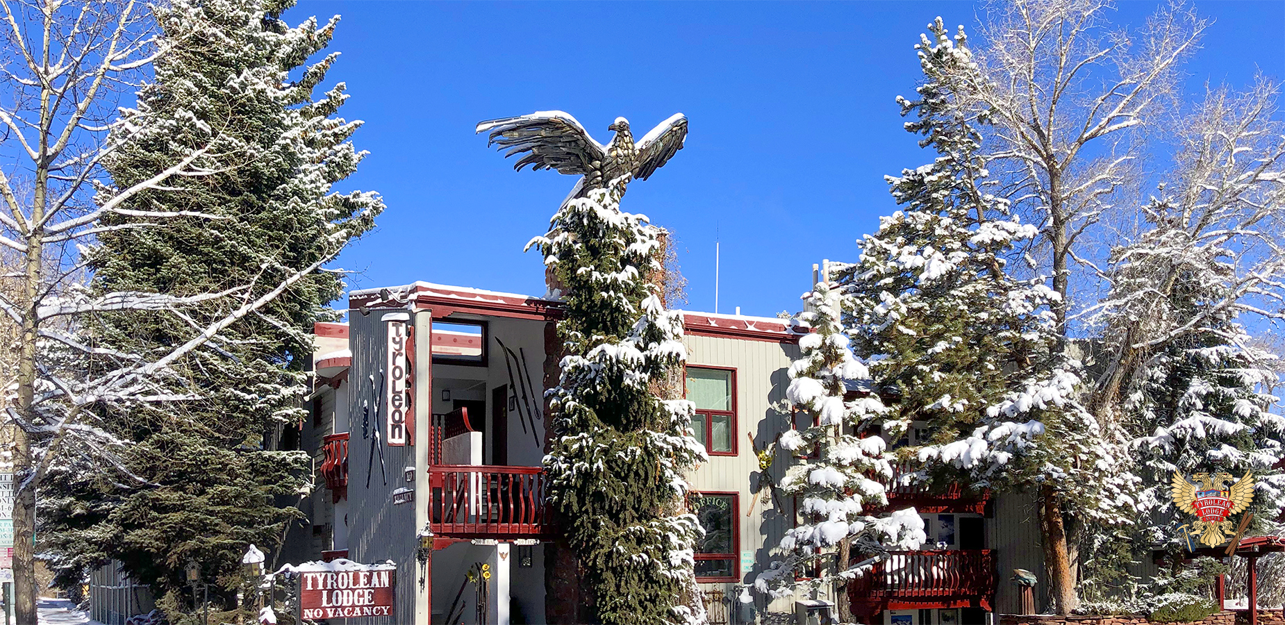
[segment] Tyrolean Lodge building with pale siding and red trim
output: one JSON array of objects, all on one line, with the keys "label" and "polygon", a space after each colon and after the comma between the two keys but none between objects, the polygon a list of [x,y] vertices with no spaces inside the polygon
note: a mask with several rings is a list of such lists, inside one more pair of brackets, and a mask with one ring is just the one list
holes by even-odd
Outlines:
[{"label": "Tyrolean Lodge building with pale siding and red trim", "polygon": [[[303,503],[311,527],[289,534],[281,559],[396,562],[394,616],[371,624],[585,622],[574,562],[544,504],[542,397],[558,379],[559,315],[554,300],[423,282],[352,292],[348,323],[316,327],[312,417],[283,441],[297,436],[325,487]],[[707,531],[695,558],[711,622],[803,622],[807,606],[834,597],[738,595],[794,522],[794,502],[761,487],[756,450],[799,418],[785,388],[804,331],[708,312],[685,312],[684,323],[686,396],[709,453],[689,481]],[[397,363],[405,378],[384,379]],[[392,388],[398,383],[405,391]],[[402,403],[405,415],[387,413]],[[403,433],[391,430],[397,418]],[[919,433],[891,442],[915,444]],[[792,462],[777,453],[766,480],[777,482]],[[855,617],[983,624],[1018,612],[1018,590],[1001,572],[1043,568],[1033,502],[929,493],[897,477],[889,504],[915,507],[928,541],[849,586]],[[486,595],[469,581],[482,565]]]}]

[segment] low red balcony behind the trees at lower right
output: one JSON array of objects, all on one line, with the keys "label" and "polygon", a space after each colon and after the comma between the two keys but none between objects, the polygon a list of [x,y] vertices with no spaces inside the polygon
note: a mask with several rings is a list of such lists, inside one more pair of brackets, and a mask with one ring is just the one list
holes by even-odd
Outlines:
[{"label": "low red balcony behind the trees at lower right", "polygon": [[866,622],[884,610],[979,607],[995,604],[992,549],[892,552],[848,586],[852,613]]}]

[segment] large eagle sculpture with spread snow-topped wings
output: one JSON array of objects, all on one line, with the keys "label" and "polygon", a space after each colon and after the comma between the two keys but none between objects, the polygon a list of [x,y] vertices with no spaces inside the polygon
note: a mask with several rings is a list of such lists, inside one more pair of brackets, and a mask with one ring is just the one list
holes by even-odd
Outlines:
[{"label": "large eagle sculpture with spread snow-topped wings", "polygon": [[607,145],[594,140],[574,117],[562,111],[537,111],[518,117],[505,117],[478,123],[477,132],[490,132],[487,145],[499,145],[505,157],[523,154],[513,165],[522,171],[558,170],[560,174],[581,176],[567,199],[582,198],[590,189],[608,184],[625,185],[631,179],[646,180],[660,168],[675,152],[682,149],[687,136],[687,118],[682,113],[660,122],[637,141],[630,131],[630,122],[617,117],[607,130],[616,136]]}]

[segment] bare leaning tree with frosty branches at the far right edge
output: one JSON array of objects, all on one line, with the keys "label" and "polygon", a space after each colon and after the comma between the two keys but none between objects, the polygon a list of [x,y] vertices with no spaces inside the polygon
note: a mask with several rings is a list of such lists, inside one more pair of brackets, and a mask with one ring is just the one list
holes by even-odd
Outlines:
[{"label": "bare leaning tree with frosty branches at the far right edge", "polygon": [[[1131,275],[1139,287],[1117,288],[1090,309],[1114,347],[1094,396],[1103,410],[1114,409],[1142,361],[1185,333],[1218,332],[1213,320],[1241,315],[1285,319],[1285,129],[1275,120],[1276,95],[1264,81],[1245,94],[1217,89],[1174,123],[1177,158],[1146,208],[1146,244],[1122,244],[1114,258],[1148,275]],[[1190,275],[1217,297],[1185,318],[1172,314],[1169,298]]]}]

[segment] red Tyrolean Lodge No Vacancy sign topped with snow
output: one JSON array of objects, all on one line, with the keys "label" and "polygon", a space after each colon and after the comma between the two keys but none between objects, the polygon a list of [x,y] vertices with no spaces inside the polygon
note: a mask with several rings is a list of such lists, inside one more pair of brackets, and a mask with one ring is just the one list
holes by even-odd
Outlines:
[{"label": "red Tyrolean Lodge No Vacancy sign topped with snow", "polygon": [[301,571],[299,607],[303,619],[392,616],[397,571],[388,565],[352,565],[341,571]]}]

